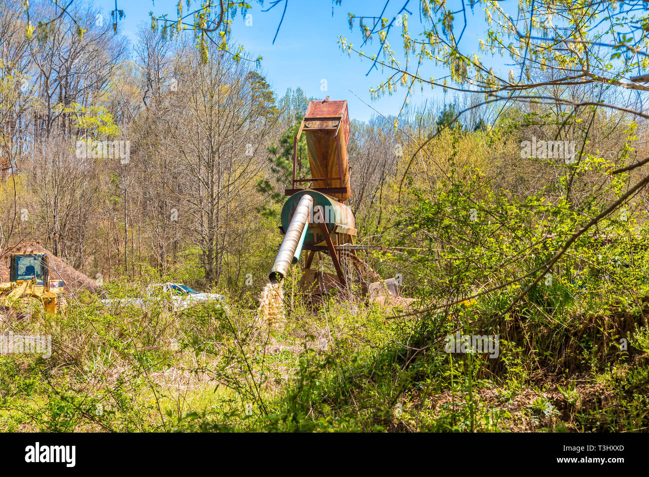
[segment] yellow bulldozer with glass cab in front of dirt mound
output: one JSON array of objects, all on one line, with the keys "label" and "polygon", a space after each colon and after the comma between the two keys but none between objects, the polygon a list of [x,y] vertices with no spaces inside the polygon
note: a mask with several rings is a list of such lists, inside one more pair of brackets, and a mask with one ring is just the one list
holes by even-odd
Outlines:
[{"label": "yellow bulldozer with glass cab in front of dirt mound", "polygon": [[13,254],[9,273],[10,281],[0,283],[0,312],[16,319],[32,319],[43,310],[65,311],[65,284],[49,279],[47,254]]}]

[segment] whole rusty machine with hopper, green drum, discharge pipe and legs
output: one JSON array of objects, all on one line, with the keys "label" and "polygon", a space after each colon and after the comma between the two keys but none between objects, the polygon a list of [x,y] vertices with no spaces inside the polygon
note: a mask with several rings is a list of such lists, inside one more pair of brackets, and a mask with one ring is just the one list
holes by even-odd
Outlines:
[{"label": "whole rusty machine with hopper, green drum, discharge pipe and legs", "polygon": [[[273,263],[269,278],[278,282],[286,276],[291,265],[304,257],[304,274],[300,285],[309,295],[323,295],[331,289],[345,289],[349,285],[349,267],[343,270],[343,257],[350,259],[358,271],[363,293],[367,293],[367,278],[380,277],[358,256],[356,251],[378,249],[369,245],[355,245],[354,214],[345,201],[351,196],[349,183],[349,114],[347,101],[311,101],[293,143],[293,182],[286,189],[289,196],[282,208],[284,240]],[[297,141],[306,136],[312,177],[297,178]],[[302,184],[311,183],[311,187]],[[336,274],[317,273],[311,269],[313,256],[330,256]],[[398,293],[397,290],[395,290]]]}]

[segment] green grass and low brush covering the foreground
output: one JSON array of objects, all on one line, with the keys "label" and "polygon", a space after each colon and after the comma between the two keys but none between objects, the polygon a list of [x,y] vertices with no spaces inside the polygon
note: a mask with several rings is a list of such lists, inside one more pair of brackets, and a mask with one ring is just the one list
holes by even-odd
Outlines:
[{"label": "green grass and low brush covering the foreground", "polygon": [[[272,330],[258,323],[247,303],[232,302],[228,313],[212,306],[173,313],[115,310],[80,296],[65,316],[2,323],[2,333],[51,334],[53,354],[0,356],[0,428],[648,428],[643,300],[603,307],[557,280],[483,330],[482,323],[508,302],[507,293],[417,317],[393,317],[353,297],[332,297],[309,310],[293,297],[286,321]],[[498,334],[498,358],[444,352],[443,338],[458,326],[467,334]]]}]

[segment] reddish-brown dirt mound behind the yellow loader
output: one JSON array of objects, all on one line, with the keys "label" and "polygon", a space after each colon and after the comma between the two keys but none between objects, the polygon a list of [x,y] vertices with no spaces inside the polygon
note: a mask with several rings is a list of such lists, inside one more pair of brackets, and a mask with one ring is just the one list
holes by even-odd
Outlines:
[{"label": "reddish-brown dirt mound behind the yellow loader", "polygon": [[38,253],[46,253],[48,256],[49,279],[63,280],[66,283],[66,289],[68,291],[77,291],[80,289],[95,291],[98,288],[95,280],[90,278],[90,276],[84,275],[70,265],[67,265],[67,263],[55,256],[55,254],[45,249],[41,241],[21,242],[15,247],[8,247],[5,251],[5,255],[0,258],[0,282],[9,281],[9,260],[12,254]]}]

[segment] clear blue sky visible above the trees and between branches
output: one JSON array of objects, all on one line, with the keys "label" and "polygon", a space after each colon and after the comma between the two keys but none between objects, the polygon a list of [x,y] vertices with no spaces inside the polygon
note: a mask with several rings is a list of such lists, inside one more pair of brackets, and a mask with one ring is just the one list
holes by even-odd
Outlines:
[{"label": "clear blue sky visible above the trees and between branches", "polygon": [[[249,3],[253,7],[249,10],[252,15],[252,25],[246,26],[243,18],[238,14],[232,26],[234,40],[241,43],[252,58],[263,56],[263,73],[278,97],[284,95],[286,88],[300,87],[307,96],[324,99],[328,95],[330,99],[347,99],[350,116],[366,121],[374,111],[351,93],[354,92],[382,114],[386,116],[398,114],[404,101],[404,90],[398,90],[392,96],[385,95],[376,101],[371,101],[370,98],[369,89],[387,78],[387,70],[382,73],[374,69],[367,75],[371,62],[361,61],[358,55],[352,55],[350,58],[341,51],[337,43],[337,38],[341,35],[354,45],[360,45],[358,29],[355,28],[353,32],[349,30],[348,14],[352,12],[357,16],[378,16],[385,4],[383,0],[343,0],[340,6],[332,5],[330,0],[288,0],[286,16],[275,44],[273,44],[273,36],[282,16],[284,1],[269,12],[262,12],[262,7],[254,0],[249,0]],[[406,0],[391,0],[384,17],[392,18],[405,3]],[[115,1],[95,0],[95,5],[101,8],[104,15],[109,16],[110,10],[115,8]],[[119,29],[131,42],[135,42],[138,25],[151,24],[149,11],[153,11],[158,16],[166,13],[168,18],[175,19],[177,18],[176,5],[177,0],[156,0],[155,5],[150,0],[130,2],[117,0],[117,7],[124,10],[126,14],[126,18],[119,22]],[[270,5],[271,1],[265,0],[263,9]],[[184,1],[183,6],[186,10]],[[416,25],[419,23],[417,10],[419,0],[410,0],[408,7],[413,13],[409,16],[409,25],[413,31],[418,31]],[[467,14],[470,27],[465,35],[468,44],[472,45],[475,43],[479,29],[471,28],[471,25],[482,24],[484,13],[476,9],[474,18],[471,17],[470,11]],[[402,49],[398,37],[400,32],[393,32],[390,34],[391,43],[399,51]],[[363,53],[368,55],[376,51],[378,51],[378,38],[374,43],[363,47]],[[428,67],[423,76],[439,78],[444,74],[442,69]],[[326,80],[326,91],[321,90],[322,80]],[[418,92],[410,101],[411,107],[423,104],[426,99],[428,107],[432,103],[444,102],[443,92],[439,88],[432,91],[427,87],[424,88],[424,93],[419,92],[421,91],[419,88],[416,89]],[[448,100],[450,99],[449,95]]]}]

